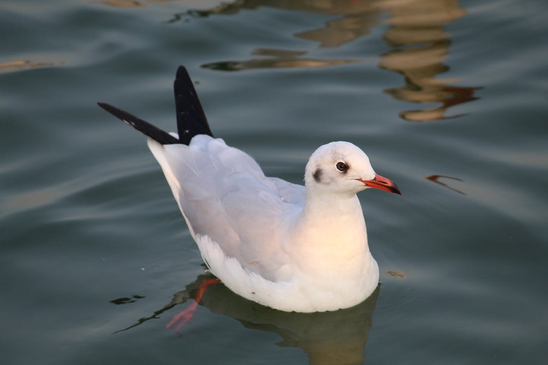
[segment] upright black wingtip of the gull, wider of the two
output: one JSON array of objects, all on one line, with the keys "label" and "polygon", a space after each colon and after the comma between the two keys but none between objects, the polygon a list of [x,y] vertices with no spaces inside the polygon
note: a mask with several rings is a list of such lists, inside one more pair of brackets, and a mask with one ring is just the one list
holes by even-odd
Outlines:
[{"label": "upright black wingtip of the gull, wider of the two", "polygon": [[189,144],[192,137],[199,134],[213,137],[207,123],[206,114],[204,114],[192,80],[184,66],[179,66],[177,69],[173,91],[175,92],[175,109],[177,112],[178,143]]}]

